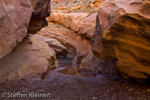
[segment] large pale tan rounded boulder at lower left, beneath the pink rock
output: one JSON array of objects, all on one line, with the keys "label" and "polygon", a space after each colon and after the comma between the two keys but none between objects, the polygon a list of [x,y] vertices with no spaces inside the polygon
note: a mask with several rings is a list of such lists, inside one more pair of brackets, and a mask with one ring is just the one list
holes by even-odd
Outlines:
[{"label": "large pale tan rounded boulder at lower left, beneath the pink rock", "polygon": [[41,77],[55,68],[55,52],[41,38],[28,35],[15,49],[0,59],[0,82]]}]

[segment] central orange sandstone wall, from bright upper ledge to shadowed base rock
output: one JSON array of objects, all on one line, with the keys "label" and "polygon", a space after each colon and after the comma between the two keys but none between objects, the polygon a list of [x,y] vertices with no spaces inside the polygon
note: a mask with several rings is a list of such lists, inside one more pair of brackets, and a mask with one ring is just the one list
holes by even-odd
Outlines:
[{"label": "central orange sandstone wall, from bright upper ledge to shadowed base rock", "polygon": [[100,59],[91,51],[90,41],[95,31],[96,16],[97,13],[53,12],[48,17],[49,26],[38,34],[57,39],[66,46],[68,52],[74,55],[72,63],[79,72],[118,76],[114,61]]}]

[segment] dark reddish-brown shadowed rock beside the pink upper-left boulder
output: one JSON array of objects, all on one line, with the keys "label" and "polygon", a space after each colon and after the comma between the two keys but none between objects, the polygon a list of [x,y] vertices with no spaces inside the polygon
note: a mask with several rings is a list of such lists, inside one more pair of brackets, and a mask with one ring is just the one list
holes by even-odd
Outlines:
[{"label": "dark reddish-brown shadowed rock beside the pink upper-left boulder", "polygon": [[30,0],[32,17],[28,26],[28,34],[36,34],[42,27],[47,26],[46,17],[50,15],[51,0]]}]

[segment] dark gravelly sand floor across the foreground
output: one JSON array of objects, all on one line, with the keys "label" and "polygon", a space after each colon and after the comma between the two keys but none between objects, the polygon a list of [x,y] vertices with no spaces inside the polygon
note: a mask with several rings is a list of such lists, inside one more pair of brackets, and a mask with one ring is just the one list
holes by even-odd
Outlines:
[{"label": "dark gravelly sand floor across the foreground", "polygon": [[[57,60],[62,67],[72,67],[72,59],[69,57],[59,57]],[[147,84],[106,75],[83,77],[74,72],[59,73],[56,70],[47,72],[44,79],[20,80],[0,85],[1,94],[9,92],[50,93],[50,97],[33,97],[31,94],[24,98],[9,98],[6,94],[0,100],[150,100]]]}]

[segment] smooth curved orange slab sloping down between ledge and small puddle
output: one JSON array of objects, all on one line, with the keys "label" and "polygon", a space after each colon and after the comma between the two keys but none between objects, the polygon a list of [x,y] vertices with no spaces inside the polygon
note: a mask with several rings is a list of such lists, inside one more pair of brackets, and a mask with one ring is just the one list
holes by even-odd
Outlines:
[{"label": "smooth curved orange slab sloping down between ledge and small puddle", "polygon": [[80,63],[91,51],[90,40],[62,25],[50,22],[49,26],[43,28],[38,34],[60,41],[68,49],[68,52],[75,56],[73,60],[74,63]]}]

